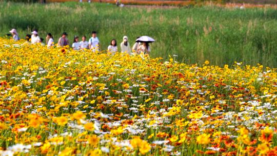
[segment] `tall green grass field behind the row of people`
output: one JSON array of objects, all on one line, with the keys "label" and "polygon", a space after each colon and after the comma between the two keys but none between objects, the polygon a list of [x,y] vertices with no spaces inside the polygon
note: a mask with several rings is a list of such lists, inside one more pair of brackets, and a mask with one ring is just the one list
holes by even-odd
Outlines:
[{"label": "tall green grass field behind the row of people", "polygon": [[149,35],[152,57],[212,65],[243,62],[277,67],[277,10],[193,8],[119,8],[111,4],[0,3],[0,35],[16,28],[20,37],[37,28],[39,35],[54,35],[57,42],[63,31],[72,43],[74,35],[98,32],[105,50],[112,38],[119,45],[127,35],[131,44],[140,35]]}]

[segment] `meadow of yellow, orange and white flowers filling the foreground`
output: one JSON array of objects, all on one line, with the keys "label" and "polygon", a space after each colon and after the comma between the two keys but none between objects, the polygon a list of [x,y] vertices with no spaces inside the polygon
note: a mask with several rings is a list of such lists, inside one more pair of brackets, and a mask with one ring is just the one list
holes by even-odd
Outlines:
[{"label": "meadow of yellow, orange and white flowers filling the foreground", "polygon": [[277,72],[0,40],[1,155],[276,155]]}]

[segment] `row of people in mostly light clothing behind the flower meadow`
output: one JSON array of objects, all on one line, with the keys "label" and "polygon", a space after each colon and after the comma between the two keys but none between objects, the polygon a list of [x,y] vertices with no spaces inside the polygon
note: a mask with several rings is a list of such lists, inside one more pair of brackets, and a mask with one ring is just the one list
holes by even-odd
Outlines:
[{"label": "row of people in mostly light clothing behind the flower meadow", "polygon": [[[19,40],[19,36],[18,36],[16,29],[12,29],[10,31],[10,33],[12,34],[12,38],[14,41]],[[68,36],[68,34],[66,32],[64,32],[62,34],[62,36],[58,39],[57,46],[59,46],[59,47],[69,46],[70,43],[69,43],[67,36]],[[139,38],[139,37],[137,37],[137,38]],[[38,36],[38,32],[36,29],[32,31],[31,35],[29,35],[29,34],[26,35],[26,40],[28,42],[31,41],[31,44],[41,43],[42,45],[45,45],[43,43],[43,38]],[[52,46],[54,46],[54,39],[53,39],[53,36],[51,33],[48,33],[46,36],[46,45],[48,48],[51,48]],[[100,48],[101,48],[101,44],[97,37],[96,31],[92,31],[91,38],[89,38],[88,41],[87,41],[87,37],[85,35],[82,36],[81,42],[79,41],[78,36],[74,36],[74,40],[72,43],[73,50],[90,49],[93,52],[95,52],[95,51],[100,51]],[[128,42],[127,36],[123,37],[123,42],[120,44],[120,48],[121,48],[121,52],[124,52],[124,53],[126,52],[128,54],[132,54],[132,53],[149,54],[149,52],[150,52],[150,47],[147,42],[135,42],[131,48],[130,43]],[[114,54],[115,52],[118,51],[115,39],[111,40],[110,45],[107,48],[107,51],[112,54]]]}]

